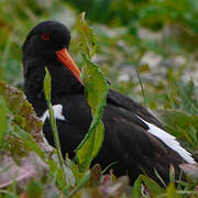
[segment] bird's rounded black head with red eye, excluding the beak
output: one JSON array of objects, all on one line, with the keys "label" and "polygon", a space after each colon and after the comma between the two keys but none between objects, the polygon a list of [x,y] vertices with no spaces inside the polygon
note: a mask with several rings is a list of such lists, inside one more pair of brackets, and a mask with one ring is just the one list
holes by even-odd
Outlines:
[{"label": "bird's rounded black head with red eye, excluding the beak", "polygon": [[68,50],[69,43],[70,32],[67,26],[57,21],[44,21],[28,34],[22,47],[23,56],[51,57],[58,50]]}]

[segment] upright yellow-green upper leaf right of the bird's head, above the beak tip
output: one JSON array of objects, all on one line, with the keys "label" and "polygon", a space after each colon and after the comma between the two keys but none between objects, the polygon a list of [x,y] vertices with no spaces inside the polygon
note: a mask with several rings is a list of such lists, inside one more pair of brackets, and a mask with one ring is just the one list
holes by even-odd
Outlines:
[{"label": "upright yellow-green upper leaf right of the bird's head, above the beak tip", "polygon": [[77,20],[78,32],[80,33],[80,48],[87,56],[91,57],[96,53],[97,41],[95,32],[89,28],[85,21],[85,12],[82,12]]}]

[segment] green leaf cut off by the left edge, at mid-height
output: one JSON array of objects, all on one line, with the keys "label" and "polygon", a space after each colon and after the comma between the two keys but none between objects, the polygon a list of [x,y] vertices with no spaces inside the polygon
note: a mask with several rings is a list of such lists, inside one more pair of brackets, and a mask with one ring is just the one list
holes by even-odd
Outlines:
[{"label": "green leaf cut off by the left edge, at mid-height", "polygon": [[4,135],[8,130],[8,120],[7,120],[7,103],[4,99],[0,96],[0,147],[3,144]]}]

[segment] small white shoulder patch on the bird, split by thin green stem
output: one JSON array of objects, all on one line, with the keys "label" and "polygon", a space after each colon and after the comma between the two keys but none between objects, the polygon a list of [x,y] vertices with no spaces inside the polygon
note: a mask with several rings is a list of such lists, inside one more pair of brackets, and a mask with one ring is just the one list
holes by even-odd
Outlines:
[{"label": "small white shoulder patch on the bird, split by thin green stem", "polygon": [[[53,106],[53,110],[54,110],[54,117],[57,120],[66,120],[65,117],[62,114],[63,111],[63,106],[62,105],[55,105]],[[46,110],[43,116],[41,117],[41,120],[43,121],[43,123],[45,122],[45,120],[50,118],[50,113],[48,110]]]}]

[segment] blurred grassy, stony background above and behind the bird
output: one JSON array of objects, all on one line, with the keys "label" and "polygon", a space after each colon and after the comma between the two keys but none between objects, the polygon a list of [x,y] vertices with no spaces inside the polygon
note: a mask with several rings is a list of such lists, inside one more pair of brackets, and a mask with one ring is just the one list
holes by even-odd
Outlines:
[{"label": "blurred grassy, stony background above and behind the bird", "polygon": [[0,78],[23,89],[21,46],[43,20],[70,28],[80,67],[75,21],[82,11],[97,35],[92,61],[112,88],[152,110],[198,113],[197,0],[0,0]]}]

